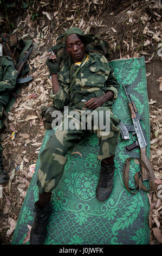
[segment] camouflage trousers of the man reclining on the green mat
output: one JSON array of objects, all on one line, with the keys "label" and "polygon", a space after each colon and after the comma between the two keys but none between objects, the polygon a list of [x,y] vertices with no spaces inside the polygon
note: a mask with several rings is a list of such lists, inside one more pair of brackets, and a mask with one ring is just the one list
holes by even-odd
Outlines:
[{"label": "camouflage trousers of the man reclining on the green mat", "polygon": [[[95,109],[97,112],[103,111],[103,119],[106,118],[107,107],[99,107]],[[78,111],[78,109],[77,109]],[[92,109],[90,109],[92,111]],[[68,124],[74,117],[68,114],[66,116]],[[81,120],[79,120],[81,123]],[[87,121],[87,119],[86,119]],[[62,119],[62,127],[64,127],[65,116]],[[102,134],[100,127],[94,126],[94,118],[92,117],[92,130],[82,129],[57,129],[53,136],[50,136],[45,149],[40,154],[40,169],[38,170],[37,186],[39,193],[52,192],[57,186],[64,171],[67,162],[66,154],[68,150],[74,149],[76,143],[88,136],[90,133],[96,133],[99,141],[98,159],[103,160],[115,154],[116,145],[120,135],[119,120],[114,117],[113,113],[109,114],[109,133]],[[87,123],[86,123],[87,125]]]}]

